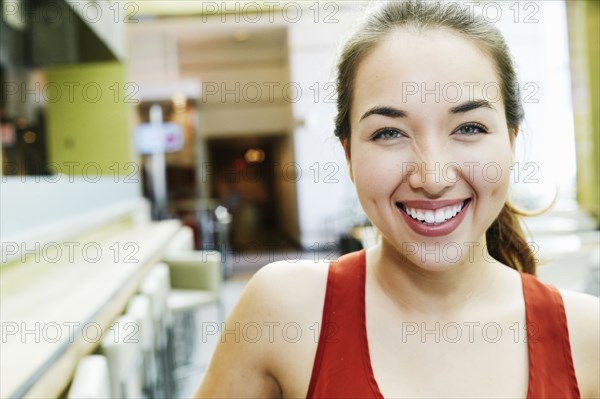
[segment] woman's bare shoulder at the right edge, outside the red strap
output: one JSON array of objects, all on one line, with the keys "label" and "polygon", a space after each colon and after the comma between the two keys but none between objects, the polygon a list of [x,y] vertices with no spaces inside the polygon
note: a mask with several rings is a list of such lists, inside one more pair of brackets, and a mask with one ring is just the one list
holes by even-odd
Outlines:
[{"label": "woman's bare shoulder at the right edge, outside the red strap", "polygon": [[565,304],[575,373],[582,398],[600,397],[600,300],[560,290]]}]

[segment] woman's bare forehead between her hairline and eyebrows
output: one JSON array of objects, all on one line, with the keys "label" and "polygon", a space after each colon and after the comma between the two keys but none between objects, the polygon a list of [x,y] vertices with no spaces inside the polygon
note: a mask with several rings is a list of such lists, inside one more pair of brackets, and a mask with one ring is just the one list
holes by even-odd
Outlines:
[{"label": "woman's bare forehead between her hairline and eyebrows", "polygon": [[442,29],[396,30],[359,64],[352,111],[432,103],[447,109],[481,98],[496,103],[500,97],[493,61],[472,41]]}]

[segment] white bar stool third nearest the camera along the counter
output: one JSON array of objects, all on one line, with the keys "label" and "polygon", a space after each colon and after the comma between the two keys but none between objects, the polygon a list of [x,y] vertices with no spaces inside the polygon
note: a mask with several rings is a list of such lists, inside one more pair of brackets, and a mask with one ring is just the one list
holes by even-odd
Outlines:
[{"label": "white bar stool third nearest the camera along the counter", "polygon": [[144,395],[149,398],[156,397],[157,370],[154,353],[154,322],[150,298],[146,295],[134,296],[129,300],[125,313],[133,317],[139,326]]}]

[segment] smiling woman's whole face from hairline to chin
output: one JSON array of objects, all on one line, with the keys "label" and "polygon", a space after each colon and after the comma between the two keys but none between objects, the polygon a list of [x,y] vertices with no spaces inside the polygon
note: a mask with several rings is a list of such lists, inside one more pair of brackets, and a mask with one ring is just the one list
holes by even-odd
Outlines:
[{"label": "smiling woman's whole face from hairline to chin", "polygon": [[350,175],[383,245],[430,270],[482,256],[513,156],[491,59],[448,31],[395,31],[360,63],[350,118]]}]

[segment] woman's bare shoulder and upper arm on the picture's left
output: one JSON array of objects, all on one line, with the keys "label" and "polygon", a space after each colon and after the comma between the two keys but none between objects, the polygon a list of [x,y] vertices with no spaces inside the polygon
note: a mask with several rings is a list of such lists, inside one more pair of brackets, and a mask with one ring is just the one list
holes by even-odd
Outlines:
[{"label": "woman's bare shoulder and upper arm on the picture's left", "polygon": [[282,261],[255,273],[222,328],[197,397],[282,397],[301,390],[296,381],[311,371],[316,345],[309,329],[322,316],[327,271],[324,263]]}]

